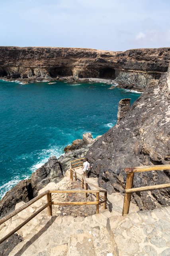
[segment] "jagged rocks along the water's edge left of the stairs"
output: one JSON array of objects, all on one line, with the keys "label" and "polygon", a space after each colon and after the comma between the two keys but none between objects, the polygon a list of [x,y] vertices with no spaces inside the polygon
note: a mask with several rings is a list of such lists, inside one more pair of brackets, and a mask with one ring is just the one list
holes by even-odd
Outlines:
[{"label": "jagged rocks along the water's edge left of the stairs", "polygon": [[21,201],[28,202],[37,196],[39,190],[50,182],[58,183],[64,178],[66,170],[69,169],[70,161],[83,158],[89,148],[100,138],[93,139],[90,133],[83,134],[82,140],[74,140],[72,145],[65,148],[65,154],[58,159],[51,156],[45,164],[35,170],[27,180],[21,180],[16,186],[9,190],[0,200],[0,218],[15,209],[15,205]]}]

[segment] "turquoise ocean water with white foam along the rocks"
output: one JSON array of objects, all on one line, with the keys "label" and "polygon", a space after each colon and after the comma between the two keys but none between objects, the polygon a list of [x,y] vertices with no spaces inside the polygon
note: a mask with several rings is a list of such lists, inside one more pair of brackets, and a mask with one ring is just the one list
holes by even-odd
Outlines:
[{"label": "turquoise ocean water with white foam along the rocks", "polygon": [[73,140],[116,124],[118,102],[139,93],[106,83],[0,80],[0,198]]}]

